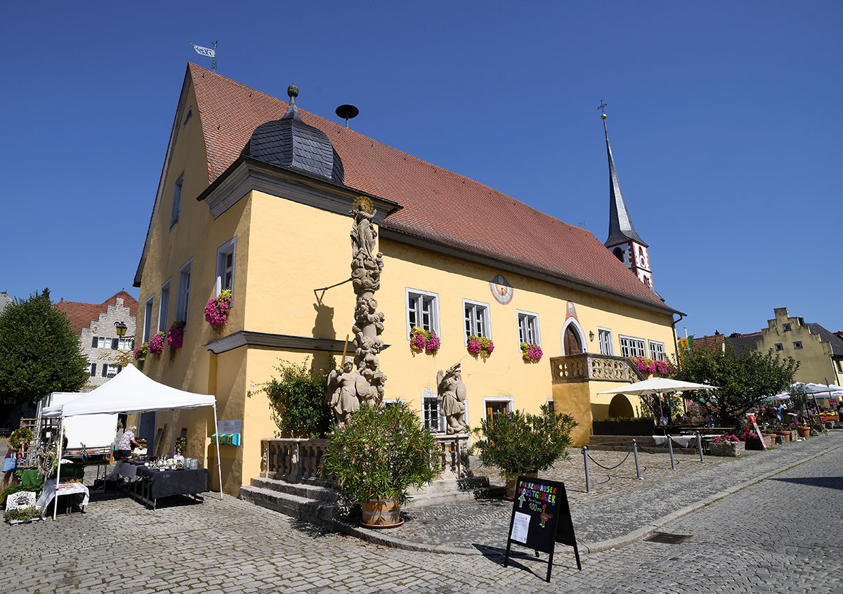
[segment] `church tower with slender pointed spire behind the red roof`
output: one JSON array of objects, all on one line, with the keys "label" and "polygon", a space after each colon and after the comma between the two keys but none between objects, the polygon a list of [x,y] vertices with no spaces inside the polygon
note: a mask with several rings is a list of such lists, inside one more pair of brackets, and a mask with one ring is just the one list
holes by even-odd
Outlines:
[{"label": "church tower with slender pointed spire behind the red roof", "polygon": [[[612,147],[609,145],[609,129],[606,127],[606,114],[602,114],[603,130],[606,133],[606,152],[609,154],[609,239],[604,246],[615,257],[626,264],[632,273],[643,284],[653,289],[652,272],[650,271],[650,255],[647,244],[636,233],[632,225],[632,218],[626,208],[624,195],[620,192],[618,173],[615,171],[615,159],[612,158]],[[655,291],[655,289],[653,289]]]}]

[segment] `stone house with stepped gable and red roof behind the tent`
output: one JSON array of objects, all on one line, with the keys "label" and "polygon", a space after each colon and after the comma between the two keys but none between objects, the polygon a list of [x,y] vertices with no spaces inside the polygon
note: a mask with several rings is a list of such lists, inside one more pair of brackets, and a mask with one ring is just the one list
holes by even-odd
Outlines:
[{"label": "stone house with stepped gable and red roof behind the tent", "polygon": [[[70,327],[79,337],[79,346],[88,359],[90,377],[82,392],[89,392],[120,373],[122,367],[115,362],[115,355],[118,349],[132,349],[137,300],[121,290],[102,303],[61,300],[56,303],[56,309],[67,316]],[[117,322],[126,325],[123,338],[117,336]]]}]

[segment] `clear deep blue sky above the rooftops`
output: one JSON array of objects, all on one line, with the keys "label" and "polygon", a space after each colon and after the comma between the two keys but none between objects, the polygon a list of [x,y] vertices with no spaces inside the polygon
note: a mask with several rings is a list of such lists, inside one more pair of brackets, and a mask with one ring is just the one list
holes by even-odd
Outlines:
[{"label": "clear deep blue sky above the rooftops", "polygon": [[653,280],[697,335],[843,329],[843,3],[14,3],[0,290],[132,289],[188,61],[604,240],[597,106]]}]

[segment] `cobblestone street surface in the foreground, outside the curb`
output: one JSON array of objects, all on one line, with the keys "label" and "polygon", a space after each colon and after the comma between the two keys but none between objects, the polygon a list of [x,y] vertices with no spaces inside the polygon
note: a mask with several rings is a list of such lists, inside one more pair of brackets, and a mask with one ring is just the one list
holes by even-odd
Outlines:
[{"label": "cobblestone street surface in the foreground, outside the curb", "polygon": [[[838,432],[803,447],[819,453],[841,444]],[[84,515],[0,527],[0,591],[839,592],[840,451],[793,466],[783,449],[783,472],[661,529],[691,535],[685,543],[586,554],[582,571],[560,545],[550,584],[544,554],[518,554],[503,568],[498,554],[377,547],[230,497],[176,499],[151,511],[107,494],[92,496]]]}]

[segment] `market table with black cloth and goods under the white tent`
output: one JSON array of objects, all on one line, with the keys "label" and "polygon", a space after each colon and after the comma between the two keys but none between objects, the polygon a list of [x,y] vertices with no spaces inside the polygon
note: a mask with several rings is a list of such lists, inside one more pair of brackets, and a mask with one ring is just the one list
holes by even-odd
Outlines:
[{"label": "market table with black cloth and goods under the white tent", "polygon": [[128,479],[126,492],[153,510],[164,497],[191,495],[203,501],[201,493],[211,490],[211,472],[200,468],[196,458],[175,456],[151,462],[135,459],[118,464],[117,473]]}]

